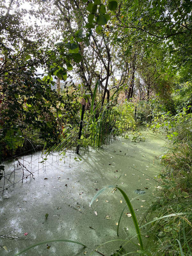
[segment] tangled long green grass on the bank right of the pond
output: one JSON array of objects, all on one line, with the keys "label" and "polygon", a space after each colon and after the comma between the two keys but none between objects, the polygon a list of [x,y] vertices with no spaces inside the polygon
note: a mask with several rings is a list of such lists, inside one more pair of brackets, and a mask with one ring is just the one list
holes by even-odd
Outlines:
[{"label": "tangled long green grass on the bank right of the pond", "polygon": [[162,156],[161,185],[145,216],[149,223],[142,226],[149,227],[152,255],[192,255],[192,137],[180,134],[183,129]]}]

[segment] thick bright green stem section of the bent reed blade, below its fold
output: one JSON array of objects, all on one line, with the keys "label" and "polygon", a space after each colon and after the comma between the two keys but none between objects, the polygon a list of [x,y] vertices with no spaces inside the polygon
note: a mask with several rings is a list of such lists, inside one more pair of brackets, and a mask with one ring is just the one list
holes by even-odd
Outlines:
[{"label": "thick bright green stem section of the bent reed blade, below its fold", "polygon": [[132,204],[131,204],[128,196],[125,194],[125,192],[121,188],[118,188],[118,187],[116,187],[116,188],[121,192],[121,194],[123,195],[128,207],[129,207],[129,211],[131,212],[133,223],[135,225],[135,229],[136,229],[137,236],[138,236],[138,239],[139,239],[140,248],[141,248],[141,250],[143,250],[143,242],[142,242],[142,237],[141,237],[141,233],[140,233],[140,228],[139,228],[137,218],[136,218],[135,212],[133,210]]}]

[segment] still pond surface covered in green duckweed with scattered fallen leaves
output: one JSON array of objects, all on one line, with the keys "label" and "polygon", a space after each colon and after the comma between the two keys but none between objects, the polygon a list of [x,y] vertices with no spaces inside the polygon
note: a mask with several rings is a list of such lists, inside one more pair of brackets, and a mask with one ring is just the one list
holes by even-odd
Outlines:
[{"label": "still pond surface covered in green duckweed with scattered fallen leaves", "polygon": [[[164,152],[164,140],[151,132],[146,133],[146,141],[121,139],[100,150],[85,152],[79,156],[80,159],[69,154],[60,161],[57,153],[54,153],[47,157],[46,165],[43,165],[39,163],[38,154],[24,156],[23,165],[31,172],[39,169],[39,174],[34,172],[31,179],[28,177],[16,188],[5,190],[0,198],[0,244],[8,250],[6,252],[0,248],[1,255],[13,256],[40,241],[63,238],[78,241],[87,248],[78,244],[52,242],[48,246],[43,244],[32,248],[22,255],[74,256],[91,255],[93,251],[92,255],[96,256],[99,254],[94,250],[98,248],[99,252],[110,256],[122,241],[99,247],[100,244],[135,236],[132,218],[125,214],[129,212],[128,209],[121,220],[119,237],[116,236],[116,224],[125,206],[120,192],[109,188],[91,208],[89,203],[97,191],[106,185],[118,185],[130,199],[137,196],[134,190],[141,189],[146,193],[133,200],[132,206],[137,210],[138,221],[142,219],[143,212],[155,197],[157,184],[152,178],[162,167],[155,157]],[[6,172],[11,172],[14,165],[17,166],[17,161],[8,162]],[[16,171],[15,180],[21,178],[22,172]],[[2,185],[1,182],[0,187]],[[46,213],[49,214],[47,220]],[[25,236],[24,233],[28,234]],[[137,239],[133,241],[137,243]],[[130,252],[138,250],[139,246],[128,243],[126,248]]]}]

